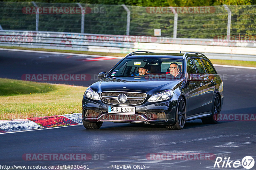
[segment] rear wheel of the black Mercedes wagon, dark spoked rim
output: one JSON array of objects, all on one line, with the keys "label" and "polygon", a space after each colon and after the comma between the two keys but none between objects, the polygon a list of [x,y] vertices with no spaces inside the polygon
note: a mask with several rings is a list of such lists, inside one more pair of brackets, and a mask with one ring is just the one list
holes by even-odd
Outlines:
[{"label": "rear wheel of the black Mercedes wagon, dark spoked rim", "polygon": [[216,94],[212,104],[212,115],[202,118],[203,124],[216,124],[220,119],[220,98]]}]

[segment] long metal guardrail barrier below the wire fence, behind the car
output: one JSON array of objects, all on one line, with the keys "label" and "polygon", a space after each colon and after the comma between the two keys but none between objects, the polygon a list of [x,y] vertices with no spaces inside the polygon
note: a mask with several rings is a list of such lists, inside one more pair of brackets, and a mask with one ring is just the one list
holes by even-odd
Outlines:
[{"label": "long metal guardrail barrier below the wire fence, behind the car", "polygon": [[211,59],[256,61],[255,40],[181,39],[68,32],[0,30],[0,46],[112,53],[136,50],[207,53]]}]

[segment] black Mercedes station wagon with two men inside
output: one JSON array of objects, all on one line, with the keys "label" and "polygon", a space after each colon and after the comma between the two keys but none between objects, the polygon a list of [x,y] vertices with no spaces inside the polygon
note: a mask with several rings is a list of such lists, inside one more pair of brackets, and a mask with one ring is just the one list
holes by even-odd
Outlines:
[{"label": "black Mercedes station wagon with two men inside", "polygon": [[99,78],[84,93],[86,129],[99,129],[104,121],[167,129],[182,129],[194,119],[219,121],[223,82],[202,53],[135,51]]}]

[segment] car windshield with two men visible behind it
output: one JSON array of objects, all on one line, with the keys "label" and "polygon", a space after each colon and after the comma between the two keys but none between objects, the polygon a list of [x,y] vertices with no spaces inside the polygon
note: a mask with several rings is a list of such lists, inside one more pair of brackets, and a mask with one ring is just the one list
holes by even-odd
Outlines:
[{"label": "car windshield with two men visible behind it", "polygon": [[132,58],[120,62],[109,76],[182,78],[183,68],[177,59]]}]

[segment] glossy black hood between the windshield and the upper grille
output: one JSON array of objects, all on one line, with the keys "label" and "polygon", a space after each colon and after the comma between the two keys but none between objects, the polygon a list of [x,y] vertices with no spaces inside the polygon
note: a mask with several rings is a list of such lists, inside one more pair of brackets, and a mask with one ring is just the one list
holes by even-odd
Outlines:
[{"label": "glossy black hood between the windshield and the upper grille", "polygon": [[[180,80],[157,80],[156,78],[145,77],[105,77],[90,87],[101,93],[102,91],[144,91],[149,95],[164,91],[166,89],[176,89],[181,86]],[[126,88],[124,88],[126,87]]]}]

